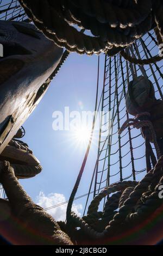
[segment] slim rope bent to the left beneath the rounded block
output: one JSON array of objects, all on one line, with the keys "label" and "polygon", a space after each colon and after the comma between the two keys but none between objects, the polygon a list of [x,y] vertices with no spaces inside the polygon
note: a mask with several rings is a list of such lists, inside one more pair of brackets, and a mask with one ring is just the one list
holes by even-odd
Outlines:
[{"label": "slim rope bent to the left beneath the rounded block", "polygon": [[133,125],[133,127],[136,129],[140,129],[142,127],[148,127],[149,131],[151,132],[151,135],[152,135],[152,142],[154,143],[156,155],[159,159],[160,158],[160,149],[159,149],[159,145],[156,140],[156,134],[155,134],[152,122],[150,120],[141,120],[141,121],[139,120],[140,117],[145,116],[145,115],[150,116],[150,114],[148,112],[143,112],[143,113],[136,115],[136,118],[127,119],[124,122],[124,124],[122,125],[121,129],[118,131],[118,134],[121,135],[121,133],[131,125]]}]

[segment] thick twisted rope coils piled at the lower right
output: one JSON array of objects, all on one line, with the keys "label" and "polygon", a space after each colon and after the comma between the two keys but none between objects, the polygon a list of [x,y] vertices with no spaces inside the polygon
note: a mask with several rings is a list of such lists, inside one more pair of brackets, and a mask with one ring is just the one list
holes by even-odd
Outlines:
[{"label": "thick twisted rope coils piled at the lower right", "polygon": [[[106,187],[92,200],[87,216],[80,218],[72,212],[71,224],[67,230],[80,227],[80,233],[82,231],[82,234],[87,235],[87,239],[91,242],[92,239],[107,241],[107,237],[121,234],[135,227],[137,223],[145,221],[163,204],[163,199],[159,198],[160,186],[163,185],[162,168],[163,156],[140,182],[122,181]],[[100,230],[100,226],[104,223],[104,212],[98,212],[98,206],[101,200],[111,193],[113,194],[108,198],[104,209],[116,202],[115,206],[110,207],[109,216],[112,208],[112,218],[110,220],[108,216],[107,222],[105,216],[105,228]],[[75,229],[73,232],[74,236],[78,233]]]}]

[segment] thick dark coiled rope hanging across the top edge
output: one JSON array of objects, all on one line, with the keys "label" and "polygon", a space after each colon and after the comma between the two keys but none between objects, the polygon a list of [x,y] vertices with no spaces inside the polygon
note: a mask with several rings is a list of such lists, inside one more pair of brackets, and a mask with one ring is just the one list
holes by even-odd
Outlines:
[{"label": "thick dark coiled rope hanging across the top edge", "polygon": [[[70,52],[109,56],[158,27],[162,36],[160,0],[19,0],[30,19],[49,39]],[[89,30],[82,34],[74,27]]]}]

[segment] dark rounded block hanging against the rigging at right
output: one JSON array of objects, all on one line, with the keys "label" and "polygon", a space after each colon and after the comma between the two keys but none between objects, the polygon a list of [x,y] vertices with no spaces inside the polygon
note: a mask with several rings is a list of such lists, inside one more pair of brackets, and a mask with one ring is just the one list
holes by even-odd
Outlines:
[{"label": "dark rounded block hanging against the rigging at right", "polygon": [[[163,101],[155,99],[154,87],[144,76],[135,77],[128,85],[126,107],[129,114],[148,112],[157,139],[163,137]],[[142,127],[142,136],[145,137],[145,127]],[[153,142],[152,135],[149,137]]]}]

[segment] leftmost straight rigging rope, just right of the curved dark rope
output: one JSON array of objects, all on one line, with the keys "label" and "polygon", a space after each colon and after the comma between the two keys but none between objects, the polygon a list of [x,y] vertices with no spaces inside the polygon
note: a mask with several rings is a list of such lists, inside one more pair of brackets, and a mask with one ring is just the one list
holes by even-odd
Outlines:
[{"label": "leftmost straight rigging rope, just right of the curved dark rope", "polygon": [[[101,147],[101,132],[102,132],[102,119],[103,119],[103,107],[104,107],[104,94],[105,94],[105,74],[106,74],[106,54],[105,54],[105,65],[104,65],[104,80],[103,80],[103,96],[102,96],[102,112],[101,112],[101,124],[99,129],[99,139],[98,139],[98,153],[97,153],[97,159],[99,159],[99,151]],[[96,189],[97,189],[97,175],[98,175],[98,162],[96,166],[96,174],[95,174],[95,186],[94,186],[94,193],[93,197],[96,196]]]}]

